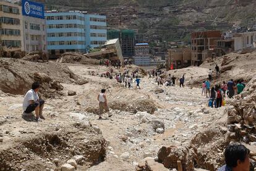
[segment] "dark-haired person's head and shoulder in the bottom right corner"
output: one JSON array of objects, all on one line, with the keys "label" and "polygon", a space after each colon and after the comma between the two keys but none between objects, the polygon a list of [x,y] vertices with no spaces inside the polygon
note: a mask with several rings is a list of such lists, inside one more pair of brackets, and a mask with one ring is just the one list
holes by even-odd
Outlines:
[{"label": "dark-haired person's head and shoulder in the bottom right corner", "polygon": [[229,144],[224,151],[226,165],[218,171],[249,171],[250,150],[242,144]]}]

